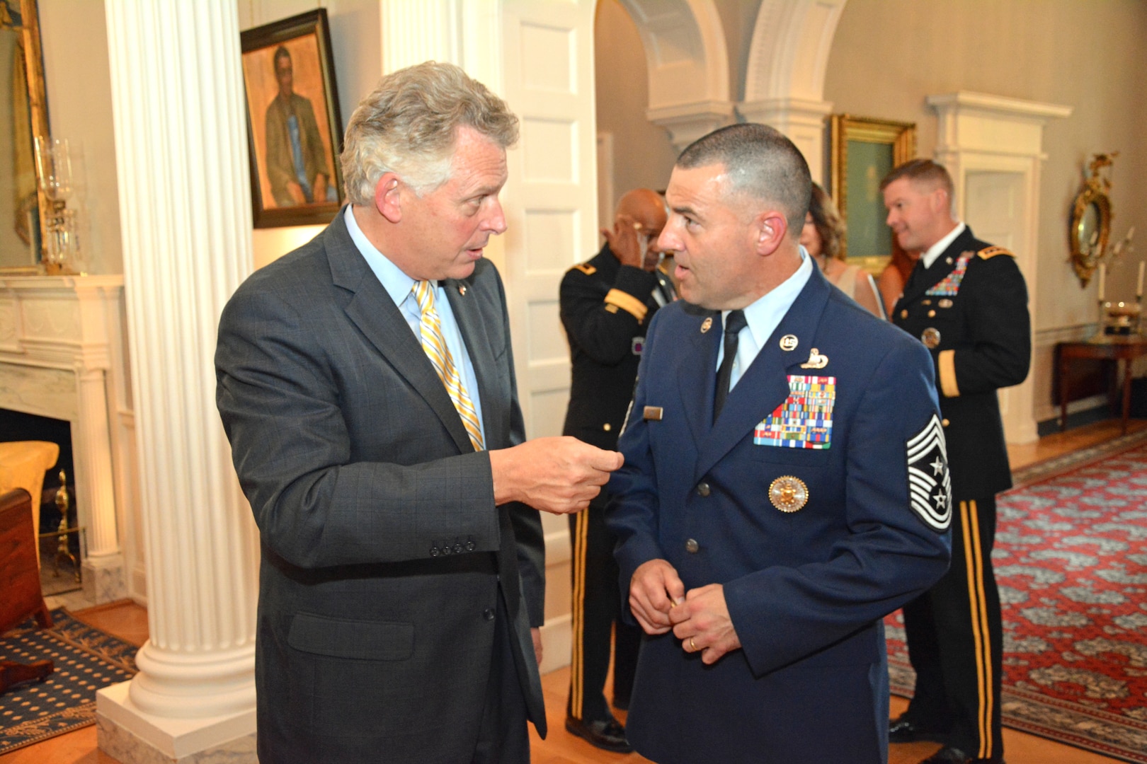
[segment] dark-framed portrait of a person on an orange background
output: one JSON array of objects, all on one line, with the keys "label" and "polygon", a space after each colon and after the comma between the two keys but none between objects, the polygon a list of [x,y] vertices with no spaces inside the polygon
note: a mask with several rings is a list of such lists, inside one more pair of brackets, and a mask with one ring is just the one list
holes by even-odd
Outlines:
[{"label": "dark-framed portrait of a person on an orange background", "polygon": [[327,11],[241,39],[255,227],[328,223],[343,203],[343,126]]}]

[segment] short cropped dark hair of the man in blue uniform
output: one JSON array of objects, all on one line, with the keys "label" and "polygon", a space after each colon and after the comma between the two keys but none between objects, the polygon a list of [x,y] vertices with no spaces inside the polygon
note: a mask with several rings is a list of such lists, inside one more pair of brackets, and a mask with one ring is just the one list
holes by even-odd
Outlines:
[{"label": "short cropped dark hair of the man in blue uniform", "polygon": [[801,236],[812,195],[809,163],[793,141],[767,125],[744,123],[715,129],[677,158],[682,170],[721,164],[732,189],[781,206],[789,231]]}]

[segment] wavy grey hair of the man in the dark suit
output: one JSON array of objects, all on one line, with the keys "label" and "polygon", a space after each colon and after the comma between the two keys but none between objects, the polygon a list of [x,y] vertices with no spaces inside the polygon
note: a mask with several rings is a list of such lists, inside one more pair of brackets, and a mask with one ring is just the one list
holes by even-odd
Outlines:
[{"label": "wavy grey hair of the man in the dark suit", "polygon": [[419,196],[435,190],[450,180],[463,125],[502,149],[517,142],[517,117],[506,102],[454,64],[427,61],[387,74],[346,126],[346,198],[372,204],[379,179],[388,172]]}]

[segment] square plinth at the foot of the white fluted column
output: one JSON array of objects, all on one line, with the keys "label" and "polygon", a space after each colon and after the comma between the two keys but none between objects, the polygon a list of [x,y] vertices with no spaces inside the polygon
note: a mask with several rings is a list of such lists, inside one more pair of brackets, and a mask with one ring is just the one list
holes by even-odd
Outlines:
[{"label": "square plinth at the foot of the white fluted column", "polygon": [[172,719],[146,714],[127,696],[131,682],[95,694],[100,750],[122,764],[258,764],[255,709]]}]

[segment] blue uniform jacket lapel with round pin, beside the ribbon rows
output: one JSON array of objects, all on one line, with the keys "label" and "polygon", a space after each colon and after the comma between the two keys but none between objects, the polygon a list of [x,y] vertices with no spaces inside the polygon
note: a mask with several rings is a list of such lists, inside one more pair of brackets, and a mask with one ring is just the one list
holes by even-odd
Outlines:
[{"label": "blue uniform jacket lapel with round pin, beside the ribbon rows", "polygon": [[[697,480],[744,440],[762,419],[788,399],[788,375],[825,373],[801,369],[801,364],[809,360],[813,348],[817,326],[828,302],[830,289],[820,269],[813,268],[809,283],[801,290],[788,313],[757,353],[757,357],[741,375],[725,401],[720,418],[713,423],[709,436],[702,441],[697,454],[695,473]],[[780,339],[786,334],[797,338],[795,349],[781,349]],[[713,362],[716,363],[716,360]],[[710,383],[711,388],[712,383]],[[711,401],[710,395],[709,411],[712,411]]]}]

